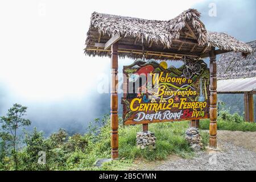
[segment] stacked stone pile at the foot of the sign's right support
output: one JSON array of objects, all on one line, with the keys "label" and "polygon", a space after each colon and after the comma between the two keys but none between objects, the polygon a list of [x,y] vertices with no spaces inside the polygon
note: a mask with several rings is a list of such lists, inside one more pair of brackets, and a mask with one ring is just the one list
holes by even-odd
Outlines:
[{"label": "stacked stone pile at the foot of the sign's right support", "polygon": [[191,127],[186,130],[186,140],[194,151],[200,151],[203,147],[199,129],[196,129],[195,127]]}]

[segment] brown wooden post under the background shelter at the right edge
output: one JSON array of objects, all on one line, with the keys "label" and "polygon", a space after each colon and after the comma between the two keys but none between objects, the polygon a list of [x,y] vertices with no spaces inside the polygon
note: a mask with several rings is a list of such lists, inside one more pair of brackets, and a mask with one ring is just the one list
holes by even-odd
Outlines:
[{"label": "brown wooden post under the background shelter at the right edge", "polygon": [[254,122],[253,93],[245,92],[245,121]]}]

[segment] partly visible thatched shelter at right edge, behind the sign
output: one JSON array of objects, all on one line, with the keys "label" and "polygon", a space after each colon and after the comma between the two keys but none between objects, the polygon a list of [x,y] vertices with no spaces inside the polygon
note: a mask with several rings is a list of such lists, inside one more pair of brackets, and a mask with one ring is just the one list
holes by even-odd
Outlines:
[{"label": "partly visible thatched shelter at right edge, behind the sign", "polygon": [[254,100],[256,94],[256,40],[247,43],[253,53],[243,57],[240,53],[223,54],[217,61],[217,93],[244,94],[245,121],[254,122]]}]

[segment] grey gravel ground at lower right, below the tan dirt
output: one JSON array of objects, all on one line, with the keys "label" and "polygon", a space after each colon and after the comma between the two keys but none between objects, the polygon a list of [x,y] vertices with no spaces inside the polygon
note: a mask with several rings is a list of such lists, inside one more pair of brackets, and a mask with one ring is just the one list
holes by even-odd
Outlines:
[{"label": "grey gravel ground at lower right, below the tan dirt", "polygon": [[197,152],[193,159],[167,160],[153,170],[256,170],[256,153],[229,142],[219,142],[220,150]]}]

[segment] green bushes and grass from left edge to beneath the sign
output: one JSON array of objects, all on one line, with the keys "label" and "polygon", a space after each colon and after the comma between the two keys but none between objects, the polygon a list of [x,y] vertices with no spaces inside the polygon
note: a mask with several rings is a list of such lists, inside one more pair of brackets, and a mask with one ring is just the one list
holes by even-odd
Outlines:
[{"label": "green bushes and grass from left edge to beneath the sign", "polygon": [[[157,138],[156,149],[139,150],[136,147],[136,135],[141,125],[123,126],[119,118],[119,160],[105,163],[102,167],[94,166],[97,159],[110,158],[110,117],[105,115],[90,123],[88,133],[68,136],[67,131],[60,129],[48,138],[36,130],[24,132],[24,146],[16,151],[18,170],[120,170],[133,166],[135,159],[163,160],[170,154],[184,158],[193,156],[193,151],[185,140],[188,122],[154,123],[150,131]],[[201,132],[203,143],[208,144],[208,134]],[[5,138],[5,137],[2,137]],[[0,143],[2,144],[2,143]],[[6,150],[1,145],[0,150]],[[8,147],[7,147],[8,148]],[[39,164],[39,152],[46,152],[46,164]],[[1,153],[2,154],[2,153]],[[15,169],[13,155],[1,157],[0,169]]]}]

